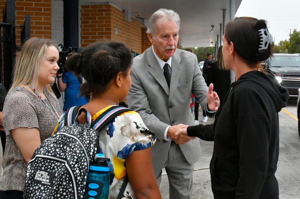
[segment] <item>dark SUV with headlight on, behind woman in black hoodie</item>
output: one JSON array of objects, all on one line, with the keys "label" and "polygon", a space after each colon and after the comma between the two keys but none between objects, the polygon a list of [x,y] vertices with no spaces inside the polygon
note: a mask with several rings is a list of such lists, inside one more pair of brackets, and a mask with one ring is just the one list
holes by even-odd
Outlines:
[{"label": "dark SUV with headlight on, behind woman in black hoodie", "polygon": [[276,76],[282,87],[287,88],[290,97],[298,97],[298,89],[300,88],[299,54],[274,54],[262,65],[268,73]]}]

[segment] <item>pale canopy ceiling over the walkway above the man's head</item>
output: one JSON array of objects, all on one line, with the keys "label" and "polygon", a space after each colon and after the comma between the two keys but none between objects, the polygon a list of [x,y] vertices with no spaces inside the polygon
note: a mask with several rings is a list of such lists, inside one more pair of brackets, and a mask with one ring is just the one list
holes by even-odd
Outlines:
[{"label": "pale canopy ceiling over the walkway above the man's head", "polygon": [[[180,15],[179,42],[182,47],[205,47],[213,45],[220,35],[223,23],[222,9],[226,9],[229,21],[230,0],[110,0],[120,10],[130,10],[132,17],[149,18],[159,8],[172,9]],[[235,12],[242,0],[235,0]],[[79,0],[80,5],[108,3],[107,0]],[[210,33],[211,25],[214,25]],[[220,36],[219,36],[220,38]]]}]

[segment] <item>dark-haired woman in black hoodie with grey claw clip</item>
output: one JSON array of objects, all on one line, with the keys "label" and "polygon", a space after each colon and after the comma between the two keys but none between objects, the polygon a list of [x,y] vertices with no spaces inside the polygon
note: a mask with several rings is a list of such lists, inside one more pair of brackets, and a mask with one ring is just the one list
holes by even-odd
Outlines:
[{"label": "dark-haired woman in black hoodie with grey claw clip", "polygon": [[215,141],[210,163],[214,198],[277,199],[278,112],[289,95],[260,69],[260,62],[272,56],[272,36],[266,21],[239,17],[226,24],[222,39],[225,66],[235,72],[236,82],[214,124],[183,128],[176,135]]}]

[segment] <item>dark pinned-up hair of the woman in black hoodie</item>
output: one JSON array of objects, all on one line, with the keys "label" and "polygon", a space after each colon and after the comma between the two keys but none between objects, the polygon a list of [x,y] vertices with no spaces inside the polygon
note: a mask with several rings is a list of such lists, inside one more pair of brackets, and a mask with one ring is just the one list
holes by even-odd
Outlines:
[{"label": "dark pinned-up hair of the woman in black hoodie", "polygon": [[273,54],[273,46],[259,50],[260,36],[258,30],[267,28],[265,20],[252,17],[237,17],[225,26],[225,38],[232,41],[236,53],[249,65],[268,59]]}]

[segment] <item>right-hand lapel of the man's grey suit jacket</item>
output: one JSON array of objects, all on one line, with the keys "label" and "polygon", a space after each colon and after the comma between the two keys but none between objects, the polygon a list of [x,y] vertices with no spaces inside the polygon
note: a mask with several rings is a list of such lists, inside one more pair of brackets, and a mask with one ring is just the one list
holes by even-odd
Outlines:
[{"label": "right-hand lapel of the man's grey suit jacket", "polygon": [[179,78],[182,72],[182,65],[180,64],[181,58],[177,51],[175,51],[172,56],[172,64],[171,64],[171,81],[170,81],[170,93],[169,93],[169,102],[171,101],[179,82]]}]

